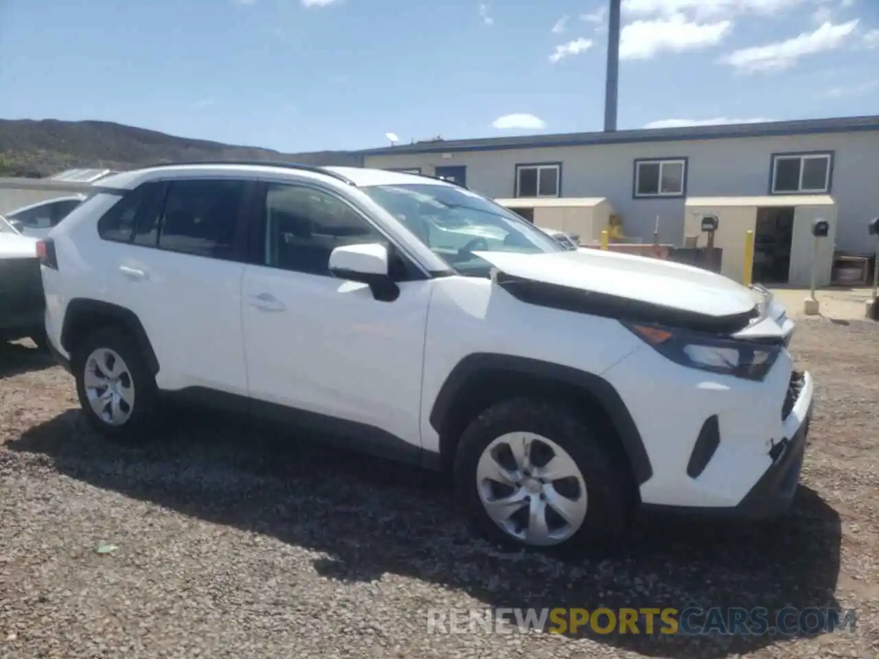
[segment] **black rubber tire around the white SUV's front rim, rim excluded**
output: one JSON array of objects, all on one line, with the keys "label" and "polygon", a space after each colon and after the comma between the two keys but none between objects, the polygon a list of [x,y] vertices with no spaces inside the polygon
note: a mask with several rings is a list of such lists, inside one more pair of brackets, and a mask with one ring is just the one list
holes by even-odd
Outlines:
[{"label": "black rubber tire around the white SUV's front rim, rim excluded", "polygon": [[[508,432],[534,432],[551,439],[576,462],[586,487],[587,509],[578,531],[563,542],[531,547],[513,538],[490,518],[476,487],[476,468],[484,449]],[[621,469],[599,443],[601,425],[588,424],[554,402],[516,398],[486,409],[461,436],[454,460],[455,493],[476,534],[508,547],[540,548],[551,553],[601,557],[612,553],[628,530],[632,497]]]}]

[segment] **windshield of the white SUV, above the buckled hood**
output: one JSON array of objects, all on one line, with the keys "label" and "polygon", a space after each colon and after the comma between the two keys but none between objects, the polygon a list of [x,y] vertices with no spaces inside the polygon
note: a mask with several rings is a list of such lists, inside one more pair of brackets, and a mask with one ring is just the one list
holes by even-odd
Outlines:
[{"label": "windshield of the white SUV, above the buckled hood", "polygon": [[465,188],[369,185],[361,188],[460,274],[486,276],[478,251],[539,254],[563,248],[527,220]]}]

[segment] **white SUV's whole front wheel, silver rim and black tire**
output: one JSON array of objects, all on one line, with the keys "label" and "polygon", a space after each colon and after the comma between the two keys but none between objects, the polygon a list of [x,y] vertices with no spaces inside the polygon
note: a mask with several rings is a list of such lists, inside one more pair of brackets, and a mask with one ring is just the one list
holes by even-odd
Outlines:
[{"label": "white SUV's whole front wheel, silver rim and black tire", "polygon": [[454,467],[471,526],[519,547],[589,555],[614,547],[628,522],[627,481],[600,427],[553,402],[517,399],[483,412],[464,431]]}]

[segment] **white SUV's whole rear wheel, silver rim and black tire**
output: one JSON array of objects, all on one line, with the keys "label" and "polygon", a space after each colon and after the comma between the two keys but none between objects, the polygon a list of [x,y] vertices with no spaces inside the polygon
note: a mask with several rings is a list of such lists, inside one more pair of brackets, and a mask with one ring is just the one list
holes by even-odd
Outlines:
[{"label": "white SUV's whole rear wheel, silver rim and black tire", "polygon": [[76,394],[91,425],[122,443],[142,441],[156,421],[156,380],[122,329],[96,330],[73,351]]}]

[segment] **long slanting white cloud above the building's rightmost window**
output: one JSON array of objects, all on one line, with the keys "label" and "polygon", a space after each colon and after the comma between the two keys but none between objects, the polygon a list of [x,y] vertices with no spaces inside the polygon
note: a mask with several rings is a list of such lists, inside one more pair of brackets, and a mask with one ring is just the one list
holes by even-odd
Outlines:
[{"label": "long slanting white cloud above the building's rightmost window", "polygon": [[825,53],[846,44],[846,37],[854,32],[858,19],[833,25],[825,23],[814,32],[804,32],[785,41],[741,48],[722,58],[742,73],[783,71],[811,54]]}]

